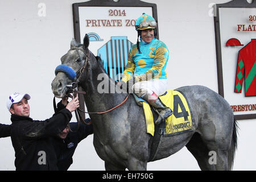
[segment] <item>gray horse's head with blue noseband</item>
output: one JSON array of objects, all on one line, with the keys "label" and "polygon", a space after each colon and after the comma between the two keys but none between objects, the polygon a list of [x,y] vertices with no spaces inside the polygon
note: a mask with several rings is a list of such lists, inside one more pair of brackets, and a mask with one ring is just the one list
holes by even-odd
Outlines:
[{"label": "gray horse's head with blue noseband", "polygon": [[78,44],[75,39],[71,41],[71,49],[61,57],[61,65],[55,69],[56,77],[52,81],[52,92],[56,97],[66,96],[71,90],[68,85],[72,85],[72,82],[77,82],[79,79],[82,69],[86,67],[86,60],[88,62],[88,46],[87,34],[83,44]]}]

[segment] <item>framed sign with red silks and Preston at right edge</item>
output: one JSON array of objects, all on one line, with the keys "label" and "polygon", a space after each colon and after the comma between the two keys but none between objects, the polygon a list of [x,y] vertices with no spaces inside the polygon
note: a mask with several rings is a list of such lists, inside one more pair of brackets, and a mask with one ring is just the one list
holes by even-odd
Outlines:
[{"label": "framed sign with red silks and Preston at right edge", "polygon": [[256,1],[216,5],[218,93],[236,119],[256,118]]}]

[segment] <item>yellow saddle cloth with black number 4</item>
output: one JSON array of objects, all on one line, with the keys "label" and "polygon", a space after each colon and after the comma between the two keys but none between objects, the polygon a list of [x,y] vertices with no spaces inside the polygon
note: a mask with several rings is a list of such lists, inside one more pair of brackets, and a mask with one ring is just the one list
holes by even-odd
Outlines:
[{"label": "yellow saddle cloth with black number 4", "polygon": [[[154,136],[155,125],[150,105],[142,98],[139,98],[135,94],[133,95],[137,104],[142,104],[143,106],[147,133]],[[159,96],[159,98],[163,104],[170,107],[174,113],[170,117],[166,118],[164,135],[176,135],[185,131],[191,131],[193,127],[191,110],[183,94],[177,90],[167,90],[167,93],[163,96]]]}]

